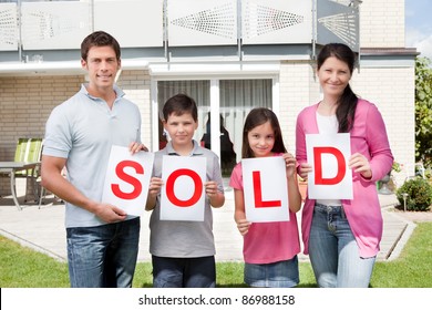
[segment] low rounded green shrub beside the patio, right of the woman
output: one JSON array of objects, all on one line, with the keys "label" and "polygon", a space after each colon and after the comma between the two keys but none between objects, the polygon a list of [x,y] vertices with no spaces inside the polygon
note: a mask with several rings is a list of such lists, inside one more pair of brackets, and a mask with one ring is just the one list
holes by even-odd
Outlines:
[{"label": "low rounded green shrub beside the patio, right of the woman", "polygon": [[432,185],[428,179],[416,177],[405,180],[397,190],[397,197],[403,208],[403,193],[407,193],[407,210],[428,211],[432,204]]}]

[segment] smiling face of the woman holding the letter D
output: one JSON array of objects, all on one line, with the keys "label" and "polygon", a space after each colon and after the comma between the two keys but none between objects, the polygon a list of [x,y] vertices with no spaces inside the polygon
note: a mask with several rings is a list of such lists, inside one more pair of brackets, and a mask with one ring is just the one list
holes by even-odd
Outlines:
[{"label": "smiling face of the woman holding the letter D", "polygon": [[335,56],[328,58],[317,71],[325,96],[340,97],[347,87],[351,72],[346,62]]}]

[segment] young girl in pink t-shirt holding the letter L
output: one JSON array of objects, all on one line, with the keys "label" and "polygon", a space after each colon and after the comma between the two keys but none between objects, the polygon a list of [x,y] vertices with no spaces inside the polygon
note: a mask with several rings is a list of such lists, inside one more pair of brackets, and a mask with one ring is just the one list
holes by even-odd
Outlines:
[{"label": "young girl in pink t-shirt holding the letter L", "polygon": [[299,282],[300,251],[296,213],[301,206],[296,158],[285,148],[275,113],[258,107],[250,111],[243,131],[241,158],[282,156],[287,167],[289,221],[249,223],[245,215],[241,163],[229,180],[234,188],[235,220],[244,236],[245,282],[251,287],[295,287]]}]

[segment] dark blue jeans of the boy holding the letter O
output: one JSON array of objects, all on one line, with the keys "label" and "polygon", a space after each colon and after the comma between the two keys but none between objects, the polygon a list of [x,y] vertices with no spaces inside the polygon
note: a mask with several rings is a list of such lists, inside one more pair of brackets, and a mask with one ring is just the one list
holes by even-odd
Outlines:
[{"label": "dark blue jeans of the boy holding the letter O", "polygon": [[154,288],[216,287],[215,257],[173,258],[152,256]]}]

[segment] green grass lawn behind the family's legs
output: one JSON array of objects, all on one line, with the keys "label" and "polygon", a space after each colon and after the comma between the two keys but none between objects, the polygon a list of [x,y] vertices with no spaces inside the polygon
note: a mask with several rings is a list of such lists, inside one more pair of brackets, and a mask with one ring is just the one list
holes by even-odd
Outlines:
[{"label": "green grass lawn behind the family's legs", "polygon": [[[376,264],[373,288],[432,288],[432,223],[418,224],[400,257]],[[217,262],[218,287],[245,287],[243,264]],[[140,262],[133,287],[152,287],[152,266]],[[0,236],[1,288],[68,288],[68,266]],[[308,262],[300,264],[301,288],[316,287]]]}]

